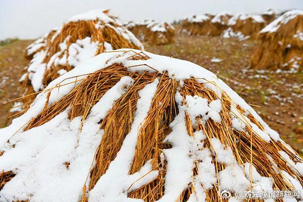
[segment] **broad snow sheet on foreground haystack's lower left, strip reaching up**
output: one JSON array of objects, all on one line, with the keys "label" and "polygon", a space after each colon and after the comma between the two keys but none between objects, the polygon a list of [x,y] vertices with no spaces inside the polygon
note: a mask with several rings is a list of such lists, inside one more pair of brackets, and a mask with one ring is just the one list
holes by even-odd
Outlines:
[{"label": "broad snow sheet on foreground haystack's lower left, strip reaching up", "polygon": [[[46,198],[78,201],[103,135],[98,121],[105,118],[114,102],[132,83],[130,77],[121,78],[93,106],[81,132],[78,131],[81,117],[69,121],[68,110],[65,110],[46,124],[12,137],[10,144],[16,144],[16,147],[7,143],[0,168],[13,170],[17,175],[1,190],[0,197],[7,201],[27,198],[37,202]],[[69,169],[66,169],[65,162],[70,163]]]}]

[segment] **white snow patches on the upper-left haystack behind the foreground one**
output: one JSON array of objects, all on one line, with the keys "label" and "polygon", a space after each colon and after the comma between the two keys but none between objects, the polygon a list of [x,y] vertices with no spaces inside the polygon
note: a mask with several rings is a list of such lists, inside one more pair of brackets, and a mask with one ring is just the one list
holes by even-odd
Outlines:
[{"label": "white snow patches on the upper-left haystack behind the foreground one", "polygon": [[[114,29],[117,34],[122,35],[129,42],[135,44],[140,49],[143,49],[143,45],[140,43],[140,41],[129,30],[122,26],[120,20],[116,18],[111,18],[103,11],[106,10],[93,10],[84,14],[74,16],[70,20],[65,22],[63,26],[69,22],[77,22],[80,20],[98,20],[96,24],[97,29],[104,29],[105,26],[108,26]],[[111,25],[111,23],[117,24],[118,26],[115,27]],[[51,41],[54,41],[58,34],[60,34],[62,27],[52,30],[56,31],[56,33],[52,36]],[[38,51],[39,48],[46,46],[46,37],[49,33],[44,34],[41,38],[37,39],[35,42],[33,42],[27,47],[28,56]],[[100,45],[100,41],[92,41],[91,38],[87,36],[83,39],[78,39],[75,43],[72,43],[68,46],[67,44],[69,44],[69,38],[70,37],[68,36],[61,44],[59,44],[60,51],[55,53],[51,57],[51,59],[49,59],[47,64],[43,62],[46,57],[47,49],[39,51],[33,56],[33,59],[29,64],[27,72],[35,92],[43,89],[42,80],[45,70],[54,68],[54,66],[57,67],[58,65],[78,66],[83,61],[86,61],[87,59],[95,56],[95,54],[97,53],[97,48]],[[105,51],[113,50],[112,44],[110,42],[104,41],[104,47]],[[62,75],[63,73],[64,72],[61,71],[59,74]],[[20,80],[24,80],[25,76],[26,75],[23,75]]]}]

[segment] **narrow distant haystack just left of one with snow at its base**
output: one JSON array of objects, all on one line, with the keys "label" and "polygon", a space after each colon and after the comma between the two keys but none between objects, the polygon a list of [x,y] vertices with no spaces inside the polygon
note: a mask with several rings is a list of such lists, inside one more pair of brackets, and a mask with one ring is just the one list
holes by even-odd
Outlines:
[{"label": "narrow distant haystack just left of one with snow at its base", "polygon": [[224,30],[228,28],[228,20],[232,17],[231,14],[227,12],[218,13],[211,20],[210,35],[220,36]]}]

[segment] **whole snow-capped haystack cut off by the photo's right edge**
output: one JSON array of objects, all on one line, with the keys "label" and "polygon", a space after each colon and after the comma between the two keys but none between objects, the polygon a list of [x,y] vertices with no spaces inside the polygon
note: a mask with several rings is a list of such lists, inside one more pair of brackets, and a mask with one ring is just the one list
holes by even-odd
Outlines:
[{"label": "whole snow-capped haystack cut off by the photo's right edge", "polygon": [[303,68],[303,11],[292,10],[259,33],[261,43],[251,58],[256,69],[301,71]]}]

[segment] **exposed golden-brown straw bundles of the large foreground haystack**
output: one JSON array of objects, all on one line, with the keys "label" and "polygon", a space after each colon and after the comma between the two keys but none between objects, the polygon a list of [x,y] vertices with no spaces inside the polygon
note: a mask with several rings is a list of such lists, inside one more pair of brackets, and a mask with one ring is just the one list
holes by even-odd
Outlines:
[{"label": "exposed golden-brown straw bundles of the large foreground haystack", "polygon": [[[142,60],[142,64],[144,64],[144,60],[146,59],[148,59],[146,55],[139,53],[132,56],[129,60]],[[138,131],[137,145],[129,174],[140,170],[140,168],[151,159],[153,169],[158,170],[159,175],[153,181],[136,190],[130,192],[126,190],[128,197],[140,198],[144,201],[156,201],[165,193],[167,162],[162,160],[161,154],[163,153],[163,149],[172,148],[171,144],[164,143],[163,140],[172,131],[170,123],[172,123],[179,113],[178,104],[175,100],[175,93],[177,91],[181,93],[184,105],[186,105],[185,97],[187,95],[197,95],[208,99],[209,102],[219,98],[222,103],[220,112],[221,122],[219,123],[209,119],[204,124],[200,121],[200,117],[197,117],[196,121],[198,124],[194,127],[191,122],[192,120],[190,120],[190,117],[186,113],[186,128],[189,136],[194,136],[195,131],[203,131],[207,136],[207,138],[203,140],[204,146],[209,149],[214,148],[210,139],[219,139],[225,148],[231,148],[239,165],[243,165],[245,162],[252,163],[262,176],[271,177],[274,180],[274,189],[294,189],[293,185],[285,180],[281,171],[287,172],[297,178],[301,185],[303,184],[302,176],[295,172],[289,164],[285,163],[279,151],[285,151],[294,162],[302,162],[302,159],[282,140],[266,142],[261,138],[261,136],[252,129],[252,126],[247,121],[244,121],[243,117],[247,117],[251,123],[256,124],[262,131],[265,131],[264,127],[254,116],[247,114],[240,106],[234,107],[241,116],[238,118],[245,124],[245,130],[237,131],[233,128],[231,117],[233,100],[227,93],[222,91],[222,96],[218,96],[215,91],[207,87],[206,84],[197,82],[195,78],[185,79],[181,85],[180,81],[171,78],[166,71],[163,73],[130,72],[121,63],[114,63],[109,67],[90,74],[70,93],[58,100],[58,102],[50,106],[47,106],[46,103],[44,110],[28,123],[25,130],[30,130],[31,128],[49,122],[68,107],[70,107],[68,113],[69,119],[73,120],[75,117],[82,116],[83,123],[90,113],[92,106],[124,76],[130,76],[134,80],[134,84],[115,102],[105,119],[99,122],[99,128],[104,129],[104,135],[95,153],[95,163],[89,174],[90,181],[83,186],[82,202],[88,201],[89,195],[86,194],[86,191],[93,189],[96,182],[105,174],[110,163],[117,156],[126,135],[129,133],[136,112],[136,103],[139,98],[138,91],[146,86],[146,84],[153,82],[156,78],[159,79],[159,84],[144,124],[141,126],[140,131]],[[215,83],[210,84],[216,85]],[[224,170],[226,165],[217,162],[216,153],[213,154],[212,157],[217,178],[219,179],[218,173]],[[198,163],[198,161],[195,162],[196,165]],[[194,176],[198,175],[198,173],[198,167],[194,166],[192,179],[194,179]],[[0,174],[0,190],[13,177],[14,173],[12,171],[2,172]],[[221,198],[219,190],[220,182],[215,184],[213,188],[205,190],[206,201],[225,201]],[[187,189],[184,189],[183,192],[180,193],[178,201],[187,201],[190,194],[194,192],[195,189],[192,181],[188,184]],[[249,201],[261,200],[251,199]]]}]

